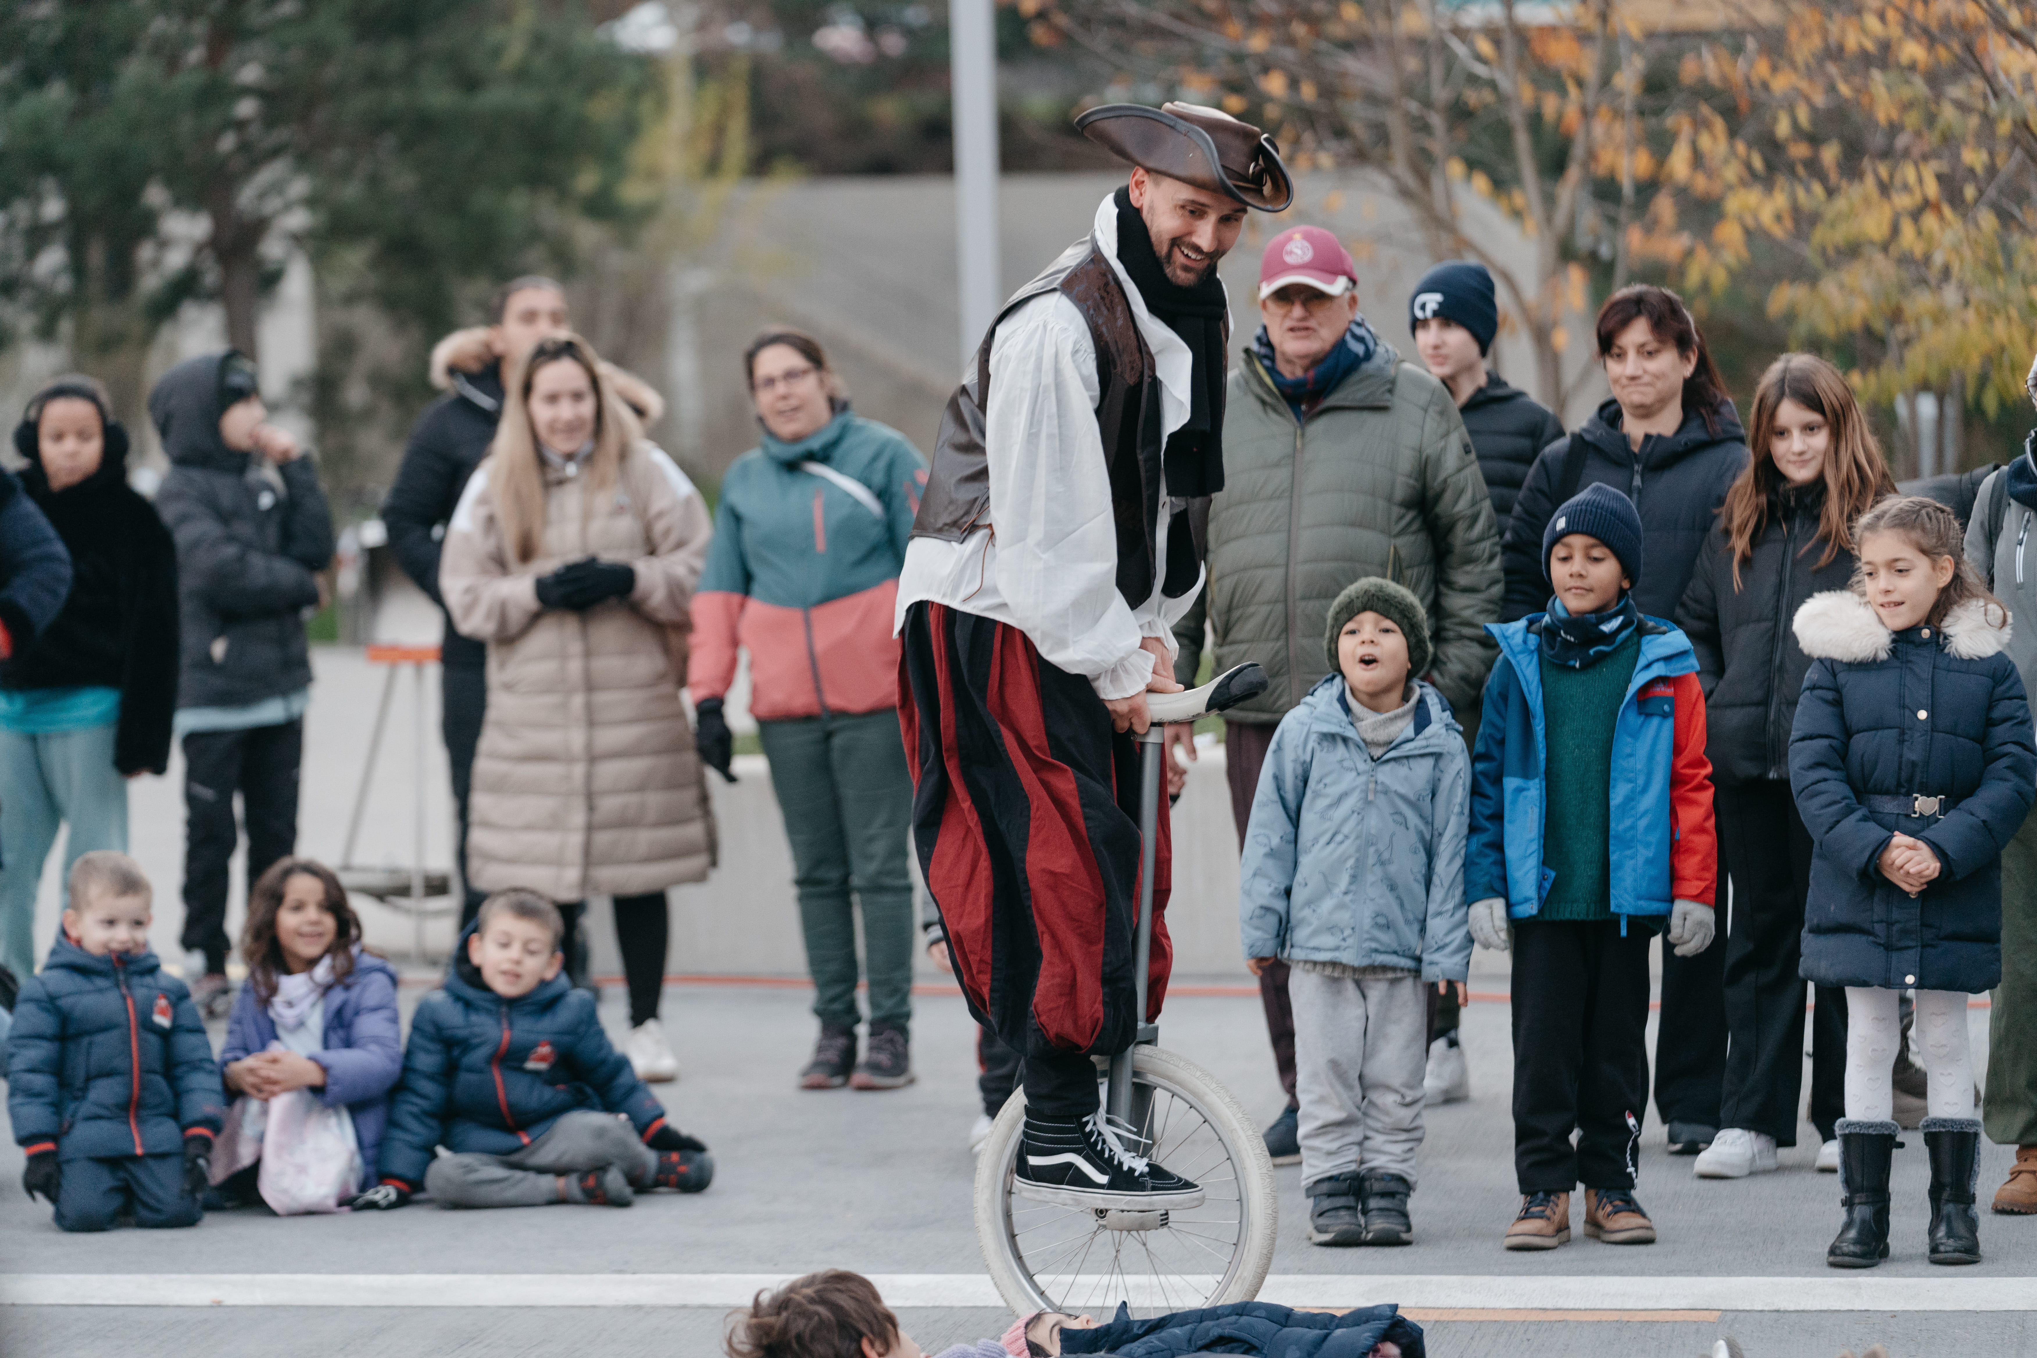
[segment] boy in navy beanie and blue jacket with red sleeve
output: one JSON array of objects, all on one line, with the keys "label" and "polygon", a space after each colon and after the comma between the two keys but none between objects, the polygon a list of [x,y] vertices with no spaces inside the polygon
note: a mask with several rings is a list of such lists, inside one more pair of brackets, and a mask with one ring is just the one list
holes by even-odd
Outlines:
[{"label": "boy in navy beanie and blue jacket with red sleeve", "polygon": [[[1642,521],[1593,485],[1542,535],[1546,613],[1487,631],[1499,664],[1471,774],[1473,937],[1513,953],[1509,1250],[1652,1244],[1634,1199],[1648,1106],[1648,939],[1711,945],[1717,837],[1691,641],[1642,617]],[[1540,709],[1540,721],[1536,711]],[[1613,853],[1617,837],[1619,851]],[[1571,1144],[1579,1132],[1577,1144]]]}]

